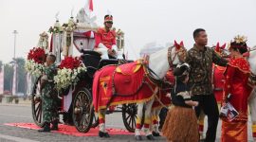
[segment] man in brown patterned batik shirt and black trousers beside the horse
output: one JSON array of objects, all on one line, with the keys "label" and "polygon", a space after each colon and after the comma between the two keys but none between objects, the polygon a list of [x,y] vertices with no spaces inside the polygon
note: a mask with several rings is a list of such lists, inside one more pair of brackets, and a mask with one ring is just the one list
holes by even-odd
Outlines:
[{"label": "man in brown patterned batik shirt and black trousers beside the horse", "polygon": [[201,111],[208,115],[207,142],[214,142],[219,119],[216,99],[213,96],[211,84],[212,62],[226,66],[228,61],[222,59],[214,50],[207,47],[208,37],[205,29],[198,28],[193,32],[195,44],[188,51],[186,62],[192,66],[190,85],[192,95],[199,102],[195,108],[197,117]]}]

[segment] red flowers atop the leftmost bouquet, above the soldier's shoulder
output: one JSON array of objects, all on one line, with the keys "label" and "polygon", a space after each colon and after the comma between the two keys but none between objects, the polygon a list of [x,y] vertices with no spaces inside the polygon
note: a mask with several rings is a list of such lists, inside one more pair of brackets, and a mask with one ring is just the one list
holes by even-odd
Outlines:
[{"label": "red flowers atop the leftmost bouquet, above the soldier's shoulder", "polygon": [[43,64],[46,61],[46,52],[41,47],[33,47],[27,55],[27,60]]}]

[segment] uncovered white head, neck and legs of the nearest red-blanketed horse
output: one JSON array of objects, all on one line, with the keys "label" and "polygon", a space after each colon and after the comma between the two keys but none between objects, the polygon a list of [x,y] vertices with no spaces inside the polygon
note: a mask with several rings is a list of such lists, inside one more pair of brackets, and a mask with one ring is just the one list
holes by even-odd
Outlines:
[{"label": "uncovered white head, neck and legs of the nearest red-blanketed horse", "polygon": [[[173,67],[174,64],[178,64],[181,61],[185,61],[186,57],[186,49],[184,45],[181,44],[176,44],[176,46],[169,47],[169,48],[164,48],[160,51],[157,51],[153,53],[152,55],[149,56],[148,60],[148,66],[149,68],[152,69],[152,71],[155,73],[151,74],[151,77],[153,77],[155,80],[161,80],[165,77],[167,71],[170,69],[170,67]],[[105,68],[105,67],[104,67]],[[101,71],[104,71],[104,68],[101,69]],[[107,68],[107,67],[106,67]],[[111,75],[112,77],[112,75]],[[97,89],[97,84],[95,84],[95,81],[100,80],[100,79],[94,79],[94,86],[93,86],[93,93],[94,89]],[[99,85],[99,84],[98,84]],[[98,94],[93,94],[93,99],[99,100]],[[120,98],[120,97],[119,97]],[[101,99],[101,98],[100,98]],[[141,119],[142,119],[142,114],[143,114],[143,106],[145,105],[145,119],[144,119],[144,132],[147,136],[148,139],[153,140],[154,137],[152,136],[152,133],[149,130],[149,125],[151,124],[151,108],[152,104],[154,102],[154,98],[151,98],[147,102],[141,102],[137,103],[137,129],[135,132],[136,139],[141,140]],[[121,103],[120,103],[121,104]],[[95,105],[95,104],[94,104]],[[101,137],[109,137],[108,133],[105,130],[105,113],[106,113],[106,108],[99,110],[99,118],[100,118],[100,132],[99,135]],[[101,121],[102,119],[102,121]]]}]

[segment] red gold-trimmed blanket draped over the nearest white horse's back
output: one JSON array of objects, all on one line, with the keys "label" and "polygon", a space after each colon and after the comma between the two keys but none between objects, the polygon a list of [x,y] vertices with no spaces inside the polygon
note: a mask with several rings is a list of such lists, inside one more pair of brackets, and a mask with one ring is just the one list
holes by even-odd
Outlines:
[{"label": "red gold-trimmed blanket draped over the nearest white horse's back", "polygon": [[142,61],[108,65],[97,71],[92,90],[95,111],[107,105],[146,102],[154,98],[158,89],[146,75]]}]

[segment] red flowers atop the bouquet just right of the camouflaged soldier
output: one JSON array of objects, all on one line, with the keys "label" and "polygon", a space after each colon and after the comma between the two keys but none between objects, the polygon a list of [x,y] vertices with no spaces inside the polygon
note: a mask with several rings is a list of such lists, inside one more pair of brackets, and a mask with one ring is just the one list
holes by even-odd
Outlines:
[{"label": "red flowers atop the bouquet just right of the camouflaged soldier", "polygon": [[64,60],[61,62],[61,64],[59,65],[60,69],[64,69],[64,68],[70,68],[70,69],[75,69],[78,68],[79,66],[82,65],[82,61],[80,58],[78,57],[65,57]]}]

